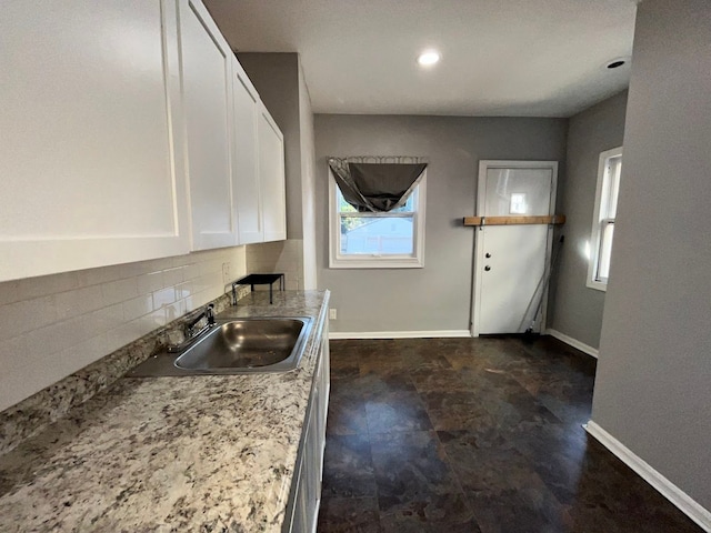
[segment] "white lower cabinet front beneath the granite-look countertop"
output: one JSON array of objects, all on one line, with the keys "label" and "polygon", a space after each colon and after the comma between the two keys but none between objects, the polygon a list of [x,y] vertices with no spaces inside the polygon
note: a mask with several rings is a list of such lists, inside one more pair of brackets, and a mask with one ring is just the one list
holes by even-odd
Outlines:
[{"label": "white lower cabinet front beneath the granite-look countertop", "polygon": [[314,376],[314,386],[309,402],[301,454],[297,464],[296,494],[291,523],[284,531],[291,533],[314,533],[321,504],[323,481],[323,451],[326,449],[326,420],[330,392],[328,322],[323,332],[321,355]]}]

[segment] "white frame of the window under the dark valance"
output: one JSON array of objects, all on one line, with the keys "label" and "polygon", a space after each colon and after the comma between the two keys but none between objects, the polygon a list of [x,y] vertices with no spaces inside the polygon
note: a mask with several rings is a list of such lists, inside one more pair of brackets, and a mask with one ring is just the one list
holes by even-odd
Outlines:
[{"label": "white frame of the window under the dark valance", "polygon": [[[329,268],[330,269],[421,269],[424,266],[424,211],[427,203],[427,169],[417,185],[417,207],[413,211],[412,254],[342,254],[341,213],[338,210],[338,185],[329,169]],[[349,213],[349,217],[402,218],[402,213]]]}]

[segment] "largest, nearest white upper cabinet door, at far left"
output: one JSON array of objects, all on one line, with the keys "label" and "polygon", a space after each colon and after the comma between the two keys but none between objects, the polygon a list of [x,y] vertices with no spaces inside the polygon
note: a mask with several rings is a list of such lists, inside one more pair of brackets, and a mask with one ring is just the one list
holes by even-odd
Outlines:
[{"label": "largest, nearest white upper cabinet door, at far left", "polygon": [[0,36],[0,281],[187,253],[174,3],[7,0]]}]

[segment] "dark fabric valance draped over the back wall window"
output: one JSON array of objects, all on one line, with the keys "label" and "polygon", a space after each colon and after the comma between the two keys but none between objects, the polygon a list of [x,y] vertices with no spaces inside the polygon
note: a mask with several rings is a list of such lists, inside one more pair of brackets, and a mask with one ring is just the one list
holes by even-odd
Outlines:
[{"label": "dark fabric valance draped over the back wall window", "polygon": [[359,212],[388,212],[404,205],[427,160],[414,157],[329,158],[336,183]]}]

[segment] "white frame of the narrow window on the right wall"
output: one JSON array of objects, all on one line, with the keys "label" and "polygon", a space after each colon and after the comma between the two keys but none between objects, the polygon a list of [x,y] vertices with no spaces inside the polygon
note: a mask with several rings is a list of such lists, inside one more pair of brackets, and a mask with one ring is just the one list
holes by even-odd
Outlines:
[{"label": "white frame of the narrow window on the right wall", "polygon": [[[620,172],[617,177],[612,175],[611,172],[608,172],[608,167],[610,164],[611,159],[620,159]],[[595,203],[594,203],[594,213],[592,215],[592,229],[590,231],[590,258],[588,261],[588,280],[587,286],[590,289],[595,289],[598,291],[607,291],[608,290],[608,281],[609,278],[601,278],[599,275],[600,264],[602,259],[602,239],[604,234],[604,229],[608,225],[612,225],[614,228],[614,220],[617,217],[617,212],[613,217],[610,217],[610,204],[612,203],[612,197],[614,195],[614,205],[617,211],[617,203],[620,193],[620,174],[622,171],[622,147],[613,148],[611,150],[605,150],[600,153],[598,159],[598,184],[595,188]],[[617,179],[617,187],[614,191],[611,190],[611,185],[613,184],[612,180]],[[612,238],[614,239],[614,238]],[[612,252],[610,251],[610,257],[608,261],[611,261]]]}]

